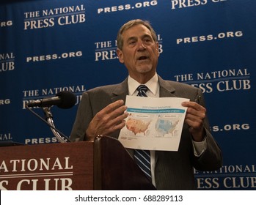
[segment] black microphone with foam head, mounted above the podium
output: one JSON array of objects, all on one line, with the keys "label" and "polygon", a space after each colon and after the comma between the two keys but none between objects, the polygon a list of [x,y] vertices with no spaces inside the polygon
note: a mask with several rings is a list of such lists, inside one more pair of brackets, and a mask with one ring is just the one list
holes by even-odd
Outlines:
[{"label": "black microphone with foam head, mounted above the podium", "polygon": [[55,97],[43,98],[40,100],[33,100],[27,103],[28,107],[51,107],[57,105],[59,108],[68,109],[76,104],[76,96],[69,91],[62,91],[56,94]]}]

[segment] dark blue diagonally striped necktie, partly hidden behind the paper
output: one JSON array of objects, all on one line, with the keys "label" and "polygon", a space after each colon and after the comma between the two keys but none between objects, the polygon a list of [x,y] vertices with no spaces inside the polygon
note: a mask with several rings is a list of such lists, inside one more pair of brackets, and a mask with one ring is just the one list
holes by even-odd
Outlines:
[{"label": "dark blue diagonally striped necktie, partly hidden behind the paper", "polygon": [[[147,97],[147,86],[140,85],[137,90],[137,96]],[[151,181],[151,168],[150,168],[150,151],[142,149],[134,149],[134,160],[139,165],[139,168],[146,174],[147,178]]]}]

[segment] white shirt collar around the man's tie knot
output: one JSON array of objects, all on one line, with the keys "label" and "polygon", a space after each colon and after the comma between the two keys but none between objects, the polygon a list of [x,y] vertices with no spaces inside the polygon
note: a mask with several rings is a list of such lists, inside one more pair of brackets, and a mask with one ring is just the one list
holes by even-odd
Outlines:
[{"label": "white shirt collar around the man's tie knot", "polygon": [[[128,76],[128,91],[129,95],[134,95],[137,89],[137,87],[140,85],[137,81],[134,80],[134,78],[131,78],[131,76]],[[158,75],[155,74],[153,78],[151,78],[147,83],[145,83],[145,86],[152,92],[154,95],[156,95],[156,92],[158,90]]]}]

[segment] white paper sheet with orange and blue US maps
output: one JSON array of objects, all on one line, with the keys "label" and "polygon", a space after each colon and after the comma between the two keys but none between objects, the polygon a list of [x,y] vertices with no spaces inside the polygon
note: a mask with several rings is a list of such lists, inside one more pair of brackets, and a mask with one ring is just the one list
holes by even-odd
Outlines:
[{"label": "white paper sheet with orange and blue US maps", "polygon": [[178,151],[186,108],[178,97],[127,96],[129,116],[119,135],[126,148]]}]

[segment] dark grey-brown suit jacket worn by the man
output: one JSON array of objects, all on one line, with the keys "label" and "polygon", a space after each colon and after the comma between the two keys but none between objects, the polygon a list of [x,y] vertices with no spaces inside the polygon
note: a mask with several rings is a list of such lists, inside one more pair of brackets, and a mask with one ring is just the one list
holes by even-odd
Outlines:
[{"label": "dark grey-brown suit jacket worn by the man", "polygon": [[[84,141],[85,131],[98,111],[116,100],[125,100],[128,95],[128,78],[116,85],[101,86],[83,93],[78,106],[76,121],[70,135],[71,141]],[[160,97],[184,97],[194,101],[201,96],[200,104],[205,107],[202,91],[185,83],[164,81],[158,76]],[[194,156],[188,125],[183,125],[178,152],[156,151],[155,179],[158,190],[194,190],[194,168],[213,171],[222,166],[222,152],[210,133],[208,119],[205,119],[207,149],[200,157]],[[118,138],[120,130],[111,137]],[[133,156],[133,151],[128,150]]]}]

